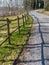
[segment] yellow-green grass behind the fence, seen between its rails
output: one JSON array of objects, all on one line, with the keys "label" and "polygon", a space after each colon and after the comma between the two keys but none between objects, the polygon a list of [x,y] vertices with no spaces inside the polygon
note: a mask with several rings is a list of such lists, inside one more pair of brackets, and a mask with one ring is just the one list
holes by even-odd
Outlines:
[{"label": "yellow-green grass behind the fence, seen between its rails", "polygon": [[[26,13],[23,13],[23,15]],[[19,18],[22,17],[22,15],[19,15]],[[1,17],[0,19],[6,19],[7,17]],[[8,17],[10,20],[16,19],[16,16],[9,16]],[[23,20],[19,20],[20,25],[23,24]],[[7,24],[7,21],[0,21],[0,25]],[[18,21],[11,21],[10,23],[10,33],[15,30],[18,27]],[[7,25],[0,28],[0,43],[2,43],[5,39],[7,38]],[[6,42],[7,43],[7,42]]]}]

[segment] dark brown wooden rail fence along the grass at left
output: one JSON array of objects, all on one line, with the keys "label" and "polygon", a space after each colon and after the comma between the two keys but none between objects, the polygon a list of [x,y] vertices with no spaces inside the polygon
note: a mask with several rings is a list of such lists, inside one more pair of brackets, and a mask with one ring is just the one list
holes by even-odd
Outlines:
[{"label": "dark brown wooden rail fence along the grass at left", "polygon": [[[8,18],[7,18],[6,20],[0,20],[0,21],[6,21],[6,22],[7,22],[7,24],[0,25],[0,28],[2,28],[2,27],[4,27],[4,26],[7,26],[7,32],[8,32],[8,34],[7,34],[8,37],[7,37],[4,41],[2,41],[2,43],[0,43],[0,46],[1,46],[3,43],[5,43],[7,40],[8,40],[8,43],[11,44],[10,37],[11,37],[11,35],[12,35],[16,30],[18,30],[19,35],[20,35],[20,28],[25,25],[25,21],[27,20],[27,18],[28,18],[27,15],[22,15],[21,18],[17,16],[17,18],[14,19],[14,20],[9,20]],[[21,20],[21,19],[23,20],[23,24],[20,26],[20,20]],[[16,27],[16,29],[15,29],[14,31],[12,31],[12,32],[10,33],[10,23],[11,23],[12,21],[17,21],[17,22],[18,22],[18,26]]]}]

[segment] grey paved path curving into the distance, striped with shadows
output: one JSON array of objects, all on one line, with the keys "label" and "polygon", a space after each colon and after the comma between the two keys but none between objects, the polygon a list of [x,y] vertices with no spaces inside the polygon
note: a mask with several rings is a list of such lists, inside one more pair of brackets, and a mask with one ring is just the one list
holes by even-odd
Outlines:
[{"label": "grey paved path curving into the distance, striped with shadows", "polygon": [[26,49],[23,60],[17,65],[49,65],[49,16],[31,11],[34,18],[34,29]]}]

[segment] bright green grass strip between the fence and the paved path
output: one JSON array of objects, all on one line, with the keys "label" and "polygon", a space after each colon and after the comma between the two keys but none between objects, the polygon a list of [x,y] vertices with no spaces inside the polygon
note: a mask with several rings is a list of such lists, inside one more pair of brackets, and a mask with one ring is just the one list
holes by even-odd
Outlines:
[{"label": "bright green grass strip between the fence and the paved path", "polygon": [[[25,44],[28,36],[29,29],[28,27],[32,23],[32,19],[29,17],[26,21],[25,26],[21,27],[20,35],[18,31],[12,34],[11,36],[11,45],[5,44],[0,47],[0,65],[11,65],[15,58],[17,58],[22,46],[21,44]],[[19,44],[20,46],[16,46]]]}]

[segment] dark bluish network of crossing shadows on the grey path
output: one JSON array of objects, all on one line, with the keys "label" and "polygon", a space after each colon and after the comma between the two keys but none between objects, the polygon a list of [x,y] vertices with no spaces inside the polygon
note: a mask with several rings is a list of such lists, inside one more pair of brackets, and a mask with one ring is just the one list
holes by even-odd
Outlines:
[{"label": "dark bluish network of crossing shadows on the grey path", "polygon": [[[44,46],[45,44],[49,44],[49,43],[45,43],[44,38],[43,38],[43,33],[49,33],[49,32],[42,32],[41,31],[41,25],[39,22],[39,19],[37,17],[35,17],[37,19],[37,23],[39,24],[39,32],[35,32],[35,33],[40,33],[40,38],[42,40],[42,42],[40,44],[26,44],[23,46],[21,52],[18,55],[18,58],[14,60],[13,65],[17,65],[18,63],[34,63],[34,62],[42,62],[42,65],[45,65],[45,60],[49,61],[49,59],[45,59],[44,58],[44,47],[49,47],[49,46]],[[31,33],[32,35],[32,33]],[[35,47],[34,47],[35,46]],[[19,57],[21,56],[21,53],[23,52],[24,49],[33,49],[33,48],[41,48],[41,59],[37,59],[37,60],[19,60]]]}]

